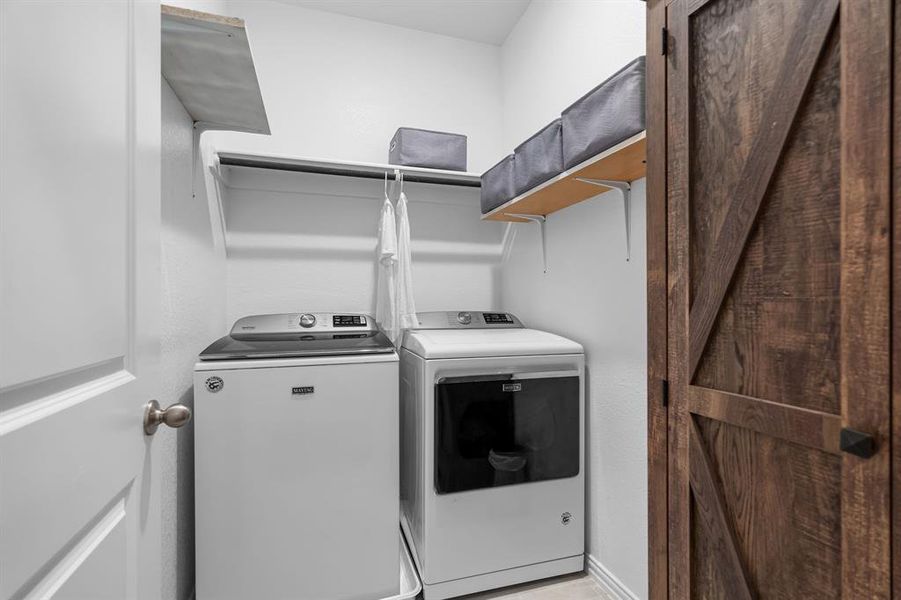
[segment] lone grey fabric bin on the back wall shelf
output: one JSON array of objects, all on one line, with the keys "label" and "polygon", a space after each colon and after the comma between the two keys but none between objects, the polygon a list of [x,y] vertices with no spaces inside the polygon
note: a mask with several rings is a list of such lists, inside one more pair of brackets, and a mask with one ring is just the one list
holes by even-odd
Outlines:
[{"label": "lone grey fabric bin on the back wall shelf", "polygon": [[466,136],[400,127],[388,146],[388,163],[448,171],[466,170]]}]

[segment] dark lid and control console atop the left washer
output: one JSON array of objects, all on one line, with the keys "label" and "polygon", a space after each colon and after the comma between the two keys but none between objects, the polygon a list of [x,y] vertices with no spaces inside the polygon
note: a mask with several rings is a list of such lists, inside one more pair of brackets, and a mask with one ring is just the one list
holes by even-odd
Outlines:
[{"label": "dark lid and control console atop the left washer", "polygon": [[388,353],[394,344],[368,315],[290,313],[239,319],[231,334],[200,353],[200,360],[302,358]]}]

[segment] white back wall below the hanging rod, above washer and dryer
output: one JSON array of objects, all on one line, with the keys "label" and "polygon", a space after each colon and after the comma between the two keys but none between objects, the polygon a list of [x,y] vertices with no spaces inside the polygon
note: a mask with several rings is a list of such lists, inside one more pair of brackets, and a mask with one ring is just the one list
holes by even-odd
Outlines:
[{"label": "white back wall below the hanging rod, above washer and dryer", "polygon": [[[266,312],[375,312],[383,182],[233,169],[229,183],[229,321]],[[404,188],[417,309],[499,308],[505,227],[479,221],[478,189]]]}]

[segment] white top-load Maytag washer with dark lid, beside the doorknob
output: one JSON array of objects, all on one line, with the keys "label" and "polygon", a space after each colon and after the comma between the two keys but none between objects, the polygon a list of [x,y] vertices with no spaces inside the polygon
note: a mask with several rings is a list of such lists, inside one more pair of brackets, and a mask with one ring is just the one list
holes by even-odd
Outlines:
[{"label": "white top-load Maytag washer with dark lid, beside the doorknob", "polygon": [[398,358],[372,317],[246,317],[194,373],[198,600],[399,589]]}]

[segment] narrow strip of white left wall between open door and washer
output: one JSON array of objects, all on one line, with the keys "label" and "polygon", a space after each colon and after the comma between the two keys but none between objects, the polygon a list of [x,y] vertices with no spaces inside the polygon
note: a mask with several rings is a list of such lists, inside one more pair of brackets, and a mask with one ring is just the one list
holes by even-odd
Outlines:
[{"label": "narrow strip of white left wall between open door and washer", "polygon": [[[162,82],[160,403],[194,405],[197,354],[225,332],[225,258],[214,247],[202,186],[192,194],[193,123]],[[194,430],[163,427],[162,597],[187,600],[194,588]]]}]

